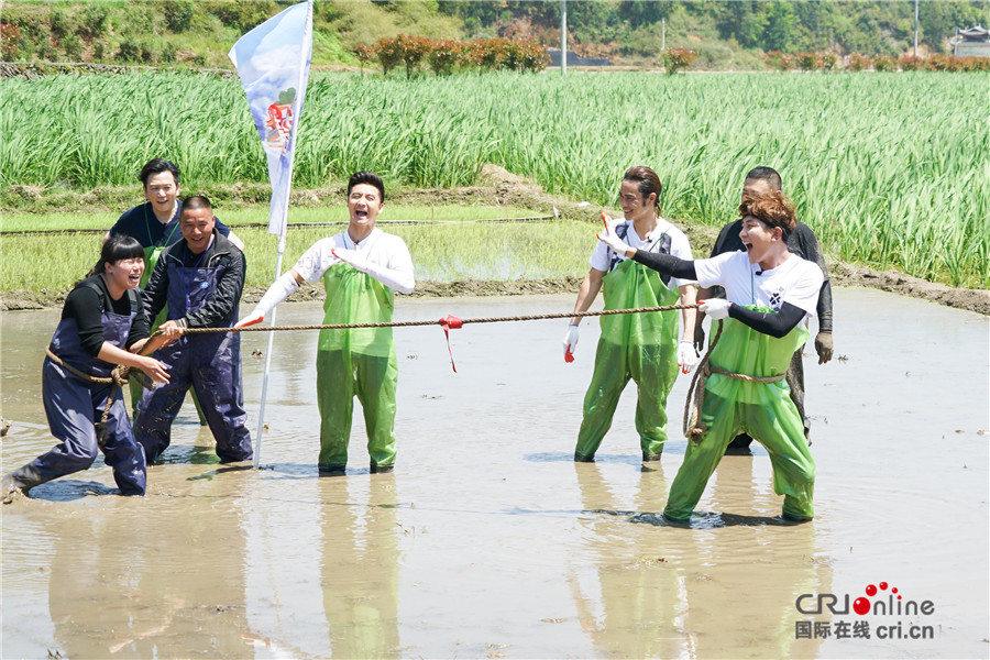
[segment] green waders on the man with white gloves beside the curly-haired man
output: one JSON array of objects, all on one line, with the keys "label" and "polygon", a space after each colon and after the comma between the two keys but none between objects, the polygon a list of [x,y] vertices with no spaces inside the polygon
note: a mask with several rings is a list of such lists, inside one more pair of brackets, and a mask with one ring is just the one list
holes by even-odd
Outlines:
[{"label": "green waders on the man with white gloves beside the curly-haired man", "polygon": [[[626,260],[603,278],[603,297],[605,309],[631,309],[674,305],[679,294],[657,271]],[[594,459],[629,378],[639,391],[636,430],[642,455],[656,459],[667,441],[667,395],[678,377],[678,314],[618,314],[603,316],[601,323],[574,460]]]}]

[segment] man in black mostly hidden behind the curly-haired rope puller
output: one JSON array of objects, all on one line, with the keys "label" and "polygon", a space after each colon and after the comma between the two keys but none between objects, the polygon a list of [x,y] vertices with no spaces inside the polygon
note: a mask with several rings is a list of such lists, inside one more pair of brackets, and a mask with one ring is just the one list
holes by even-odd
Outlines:
[{"label": "man in black mostly hidden behind the curly-haired rope puller", "polygon": [[[755,167],[746,175],[743,183],[743,197],[747,195],[767,195],[770,193],[781,191],[780,174],[772,167]],[[726,252],[745,251],[743,240],[739,232],[743,230],[743,220],[729,222],[722,228],[718,239],[715,240],[715,246],[712,248],[712,256],[717,256]],[[798,221],[796,229],[788,237],[788,250],[796,254],[803,260],[814,262],[822,268],[825,282],[822,283],[822,290],[818,294],[817,316],[818,316],[818,334],[815,337],[815,352],[818,354],[818,364],[825,364],[832,360],[832,283],[828,279],[828,267],[825,265],[825,257],[822,249],[818,246],[818,240],[812,229]],[[725,297],[725,290],[721,286],[711,289],[702,288],[698,290],[698,298]],[[704,314],[698,316],[697,326],[695,327],[695,345],[698,351],[704,351],[705,334],[702,329]],[[804,420],[804,437],[811,439],[811,420],[804,411],[804,361],[802,353],[804,346],[800,346],[794,351],[791,359],[791,365],[788,367],[788,385],[791,387],[791,400],[798,407],[798,413]],[[748,453],[752,438],[746,433],[736,437],[728,446],[729,453]]]}]

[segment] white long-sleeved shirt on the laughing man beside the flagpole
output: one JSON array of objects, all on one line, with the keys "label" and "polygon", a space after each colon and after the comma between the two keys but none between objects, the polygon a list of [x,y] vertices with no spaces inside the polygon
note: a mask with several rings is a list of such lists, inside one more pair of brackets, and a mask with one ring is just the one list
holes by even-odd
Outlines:
[{"label": "white long-sleeved shirt on the laughing man beside the flagpole", "polygon": [[330,252],[334,248],[356,250],[370,264],[367,274],[388,288],[408,294],[416,286],[413,256],[406,248],[406,242],[378,228],[373,229],[371,234],[358,244],[351,240],[346,231],[329,239],[321,239],[299,257],[293,270],[310,284],[319,282],[327,268],[340,262]]}]

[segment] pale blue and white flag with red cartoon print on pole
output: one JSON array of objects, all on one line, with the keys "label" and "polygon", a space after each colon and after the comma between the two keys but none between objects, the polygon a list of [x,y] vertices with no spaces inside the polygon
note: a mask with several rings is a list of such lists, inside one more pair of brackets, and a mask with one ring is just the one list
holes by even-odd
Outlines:
[{"label": "pale blue and white flag with red cartoon print on pole", "polygon": [[285,235],[296,129],[312,57],[312,0],[294,4],[242,36],[229,57],[268,157],[268,231]]}]

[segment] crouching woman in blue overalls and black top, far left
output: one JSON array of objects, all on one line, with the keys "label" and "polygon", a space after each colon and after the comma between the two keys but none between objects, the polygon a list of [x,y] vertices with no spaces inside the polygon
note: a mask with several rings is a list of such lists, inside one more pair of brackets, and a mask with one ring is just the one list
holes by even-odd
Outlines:
[{"label": "crouching woman in blue overalls and black top, far left", "polygon": [[131,432],[121,388],[106,382],[114,364],[140,369],[157,383],[168,382],[164,364],[136,354],[155,348],[146,345],[148,323],[138,292],[144,250],[133,238],[111,237],[90,276],[66,297],[42,367],[45,415],[52,435],[62,442],[4,476],[4,496],[11,488],[28,492],[86,470],[98,450],[113,469],[121,495],[144,495],[144,451]]}]

